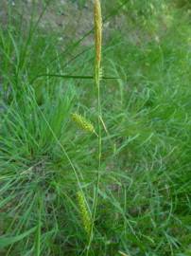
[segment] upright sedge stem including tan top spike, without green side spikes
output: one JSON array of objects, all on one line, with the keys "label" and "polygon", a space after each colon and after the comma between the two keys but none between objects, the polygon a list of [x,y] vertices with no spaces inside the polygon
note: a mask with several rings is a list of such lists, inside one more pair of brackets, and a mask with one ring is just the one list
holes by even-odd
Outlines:
[{"label": "upright sedge stem including tan top spike, without green side spikes", "polygon": [[94,225],[96,220],[96,207],[98,199],[98,188],[100,182],[100,169],[101,169],[101,154],[102,154],[102,138],[101,138],[101,99],[100,99],[100,70],[101,70],[101,46],[102,46],[102,16],[101,16],[101,5],[99,0],[95,0],[95,85],[96,85],[96,96],[97,96],[97,122],[98,122],[98,166],[96,176],[96,194],[93,207],[92,226],[89,238],[89,244],[87,247],[86,255],[89,255],[90,247],[94,239]]}]

